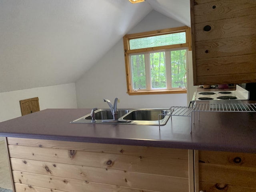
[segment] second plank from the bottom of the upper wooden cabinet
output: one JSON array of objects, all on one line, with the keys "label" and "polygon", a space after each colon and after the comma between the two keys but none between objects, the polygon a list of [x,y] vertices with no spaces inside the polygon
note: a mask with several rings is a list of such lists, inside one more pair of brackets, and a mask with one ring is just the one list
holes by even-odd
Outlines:
[{"label": "second plank from the bottom of the upper wooden cabinet", "polygon": [[[256,55],[242,55],[224,58],[196,60],[197,76],[220,76],[239,74],[256,75]],[[244,77],[246,78],[246,77]]]}]

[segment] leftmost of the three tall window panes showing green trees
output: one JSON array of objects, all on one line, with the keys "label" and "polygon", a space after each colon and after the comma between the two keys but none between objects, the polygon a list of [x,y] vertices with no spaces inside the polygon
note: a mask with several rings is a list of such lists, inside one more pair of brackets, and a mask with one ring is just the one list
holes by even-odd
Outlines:
[{"label": "leftmost of the three tall window panes showing green trees", "polygon": [[146,70],[144,58],[144,54],[132,55],[130,58],[133,89],[146,89]]}]

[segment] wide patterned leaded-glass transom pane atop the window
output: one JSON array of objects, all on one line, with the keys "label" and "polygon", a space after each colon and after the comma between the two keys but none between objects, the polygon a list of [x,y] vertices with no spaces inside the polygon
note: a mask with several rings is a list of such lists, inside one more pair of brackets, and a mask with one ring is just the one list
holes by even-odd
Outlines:
[{"label": "wide patterned leaded-glass transom pane atop the window", "polygon": [[186,43],[186,32],[129,40],[130,50]]}]

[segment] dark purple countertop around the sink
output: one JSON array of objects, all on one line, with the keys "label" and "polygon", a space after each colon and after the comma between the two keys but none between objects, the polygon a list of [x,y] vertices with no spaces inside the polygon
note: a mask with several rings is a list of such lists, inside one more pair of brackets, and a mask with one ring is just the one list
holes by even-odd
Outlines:
[{"label": "dark purple countertop around the sink", "polygon": [[173,116],[165,126],[70,124],[90,109],[46,109],[0,123],[0,136],[256,153],[256,112]]}]

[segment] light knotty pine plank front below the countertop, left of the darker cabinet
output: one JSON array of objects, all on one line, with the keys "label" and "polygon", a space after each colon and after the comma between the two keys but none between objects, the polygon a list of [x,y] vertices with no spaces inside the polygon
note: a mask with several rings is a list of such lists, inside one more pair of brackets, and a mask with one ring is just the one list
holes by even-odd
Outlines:
[{"label": "light knotty pine plank front below the countertop, left of the darker cabinet", "polygon": [[194,191],[193,150],[7,141],[16,192]]}]

